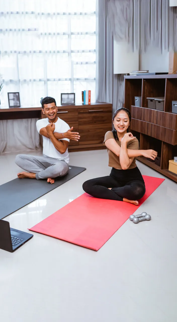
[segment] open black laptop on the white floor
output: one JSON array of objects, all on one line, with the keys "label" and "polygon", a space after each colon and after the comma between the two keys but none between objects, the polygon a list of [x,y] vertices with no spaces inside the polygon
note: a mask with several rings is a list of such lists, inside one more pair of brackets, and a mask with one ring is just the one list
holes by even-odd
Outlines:
[{"label": "open black laptop on the white floor", "polygon": [[16,251],[25,242],[33,237],[28,232],[10,228],[9,222],[0,219],[0,248],[5,251]]}]

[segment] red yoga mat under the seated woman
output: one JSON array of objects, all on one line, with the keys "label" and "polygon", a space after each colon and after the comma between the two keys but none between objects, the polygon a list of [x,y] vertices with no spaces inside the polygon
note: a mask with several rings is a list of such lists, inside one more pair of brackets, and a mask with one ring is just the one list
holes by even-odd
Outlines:
[{"label": "red yoga mat under the seated woman", "polygon": [[[146,193],[139,206],[164,181],[143,177]],[[139,206],[98,199],[85,193],[29,230],[98,251]]]}]

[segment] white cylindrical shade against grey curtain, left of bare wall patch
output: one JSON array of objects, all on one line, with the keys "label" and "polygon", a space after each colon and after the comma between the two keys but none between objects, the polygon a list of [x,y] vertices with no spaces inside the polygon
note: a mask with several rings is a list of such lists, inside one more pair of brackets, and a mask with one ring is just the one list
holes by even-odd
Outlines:
[{"label": "white cylindrical shade against grey curtain, left of bare wall patch", "polygon": [[131,71],[138,71],[138,52],[128,50],[126,42],[117,43],[114,41],[114,74],[128,74]]}]

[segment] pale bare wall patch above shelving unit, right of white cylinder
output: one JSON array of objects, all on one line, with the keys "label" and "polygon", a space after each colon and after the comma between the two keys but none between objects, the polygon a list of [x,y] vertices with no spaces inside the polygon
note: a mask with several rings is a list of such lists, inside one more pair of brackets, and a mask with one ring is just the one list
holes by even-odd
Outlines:
[{"label": "pale bare wall patch above shelving unit, right of white cylinder", "polygon": [[149,47],[148,51],[139,56],[139,70],[149,70],[153,72],[168,72],[169,67],[169,52],[156,47]]}]

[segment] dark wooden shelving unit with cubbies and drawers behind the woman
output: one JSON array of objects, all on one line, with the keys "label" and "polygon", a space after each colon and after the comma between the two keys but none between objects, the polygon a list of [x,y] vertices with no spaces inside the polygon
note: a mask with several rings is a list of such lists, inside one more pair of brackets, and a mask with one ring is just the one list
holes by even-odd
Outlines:
[{"label": "dark wooden shelving unit with cubbies and drawers behind the woman", "polygon": [[[172,100],[177,100],[177,75],[124,76],[125,104],[131,111],[131,131],[138,138],[140,149],[154,149],[161,158],[160,166],[144,157],[137,159],[177,182],[177,175],[168,171],[169,160],[177,156],[177,114],[172,113]],[[135,96],[141,96],[136,107]],[[147,97],[165,97],[164,111],[148,108]]]}]

